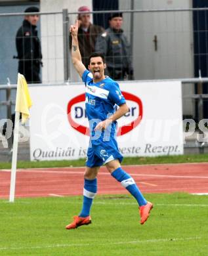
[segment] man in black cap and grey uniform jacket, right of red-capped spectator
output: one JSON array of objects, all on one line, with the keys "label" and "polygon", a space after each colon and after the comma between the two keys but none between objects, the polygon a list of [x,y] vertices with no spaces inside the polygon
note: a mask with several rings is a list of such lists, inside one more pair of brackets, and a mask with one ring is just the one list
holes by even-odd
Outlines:
[{"label": "man in black cap and grey uniform jacket, right of red-capped spectator", "polygon": [[131,60],[131,47],[121,29],[122,12],[110,15],[110,27],[96,41],[95,51],[106,56],[108,75],[114,80],[134,79]]}]

